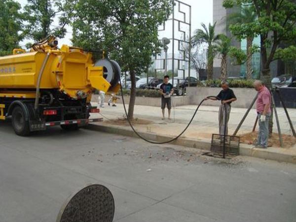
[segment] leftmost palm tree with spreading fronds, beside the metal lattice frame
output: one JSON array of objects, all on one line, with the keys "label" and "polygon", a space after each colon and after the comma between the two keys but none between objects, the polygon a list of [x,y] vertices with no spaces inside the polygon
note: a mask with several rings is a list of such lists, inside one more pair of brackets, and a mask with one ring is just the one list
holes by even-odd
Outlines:
[{"label": "leftmost palm tree with spreading fronds, beside the metal lattice frame", "polygon": [[215,35],[215,27],[216,22],[214,25],[209,23],[209,27],[206,27],[204,23],[201,23],[203,29],[197,29],[194,34],[194,41],[199,43],[206,43],[208,45],[207,50],[207,72],[208,72],[208,79],[213,79],[213,63],[214,57],[216,54],[215,45],[218,43],[220,35]]}]

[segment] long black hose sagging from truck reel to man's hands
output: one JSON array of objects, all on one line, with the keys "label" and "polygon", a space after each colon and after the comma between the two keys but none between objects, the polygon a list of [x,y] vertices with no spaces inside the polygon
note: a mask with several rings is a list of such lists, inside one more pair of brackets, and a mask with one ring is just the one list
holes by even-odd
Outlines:
[{"label": "long black hose sagging from truck reel to man's hands", "polygon": [[[126,115],[126,119],[127,119],[128,123],[129,123],[129,125],[131,126],[132,130],[134,131],[134,133],[135,133],[139,138],[141,138],[142,140],[144,140],[144,141],[146,141],[146,142],[148,142],[148,143],[150,143],[150,144],[167,144],[167,143],[171,143],[171,142],[177,140],[179,137],[181,137],[182,134],[185,133],[185,131],[186,131],[186,130],[188,129],[188,127],[190,126],[190,124],[191,124],[192,120],[194,119],[194,116],[195,116],[196,112],[198,111],[199,107],[201,106],[201,104],[206,100],[206,99],[203,99],[203,100],[199,103],[199,105],[197,106],[196,110],[194,111],[194,114],[193,114],[193,116],[191,117],[189,123],[187,124],[187,126],[185,127],[185,129],[184,129],[184,130],[183,130],[183,131],[182,131],[177,137],[175,137],[175,138],[173,138],[173,139],[171,139],[171,140],[168,140],[168,141],[164,141],[164,142],[151,141],[151,140],[148,140],[148,139],[144,138],[143,136],[141,136],[141,135],[135,130],[135,128],[133,127],[131,121],[128,119],[128,114],[127,114],[126,107],[125,107],[125,103],[124,103],[123,90],[122,90],[122,85],[121,85],[121,79],[120,79],[120,78],[119,78],[119,82],[120,82],[120,91],[121,91],[121,97],[122,97],[122,104],[123,104],[124,112],[125,112],[125,115]],[[216,96],[209,96],[209,97],[207,97],[207,98],[217,98],[217,97],[216,97]]]}]

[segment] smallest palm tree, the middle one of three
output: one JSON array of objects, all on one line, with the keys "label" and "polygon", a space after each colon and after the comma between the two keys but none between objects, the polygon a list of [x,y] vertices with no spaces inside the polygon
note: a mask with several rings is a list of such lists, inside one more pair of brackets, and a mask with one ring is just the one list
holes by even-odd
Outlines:
[{"label": "smallest palm tree, the middle one of three", "polygon": [[221,55],[221,79],[227,78],[227,54],[231,46],[231,39],[225,35],[220,35],[220,40],[215,46],[215,51]]}]

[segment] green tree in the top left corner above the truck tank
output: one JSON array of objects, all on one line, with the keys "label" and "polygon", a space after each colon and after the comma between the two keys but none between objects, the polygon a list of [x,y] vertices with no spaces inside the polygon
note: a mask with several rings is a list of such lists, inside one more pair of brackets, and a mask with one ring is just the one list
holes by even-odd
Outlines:
[{"label": "green tree in the top left corner above the truck tank", "polygon": [[0,56],[11,54],[23,39],[21,5],[14,0],[0,0]]}]

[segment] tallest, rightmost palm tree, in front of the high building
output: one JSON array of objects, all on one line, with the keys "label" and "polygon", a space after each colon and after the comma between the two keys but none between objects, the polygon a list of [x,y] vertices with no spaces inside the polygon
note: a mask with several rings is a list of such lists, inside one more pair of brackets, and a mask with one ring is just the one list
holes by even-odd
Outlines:
[{"label": "tallest, rightmost palm tree, in front of the high building", "polygon": [[[249,24],[257,19],[255,8],[253,5],[241,5],[240,10],[236,13],[232,13],[227,18],[227,26],[236,24]],[[252,79],[252,47],[254,35],[247,36],[247,60],[246,60],[246,77],[247,79]]]}]

